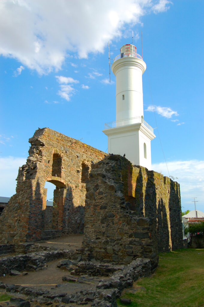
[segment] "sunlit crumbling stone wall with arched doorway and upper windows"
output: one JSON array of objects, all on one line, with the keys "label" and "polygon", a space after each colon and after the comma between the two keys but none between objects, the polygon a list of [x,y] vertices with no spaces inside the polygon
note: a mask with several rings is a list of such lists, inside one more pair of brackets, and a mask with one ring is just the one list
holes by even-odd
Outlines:
[{"label": "sunlit crumbling stone wall with arched doorway and upper windows", "polygon": [[19,168],[16,194],[0,218],[2,244],[39,240],[43,231],[48,235],[46,181],[56,186],[52,234],[83,232],[86,180],[82,173],[88,179],[91,164],[104,157],[104,152],[49,128],[36,130],[29,142],[29,157]]}]

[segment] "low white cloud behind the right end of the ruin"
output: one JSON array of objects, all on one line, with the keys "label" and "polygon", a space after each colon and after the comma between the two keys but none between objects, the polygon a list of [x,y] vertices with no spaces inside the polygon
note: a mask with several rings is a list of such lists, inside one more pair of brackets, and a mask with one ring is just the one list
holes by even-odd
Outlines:
[{"label": "low white cloud behind the right end of the ruin", "polygon": [[[192,197],[197,197],[200,206],[204,210],[204,161],[172,161],[167,163],[171,176],[177,177],[175,181],[180,184],[182,206],[186,209],[191,208]],[[152,164],[152,169],[169,177],[165,163]],[[194,205],[193,205],[194,206]],[[191,209],[192,210],[192,209]]]}]

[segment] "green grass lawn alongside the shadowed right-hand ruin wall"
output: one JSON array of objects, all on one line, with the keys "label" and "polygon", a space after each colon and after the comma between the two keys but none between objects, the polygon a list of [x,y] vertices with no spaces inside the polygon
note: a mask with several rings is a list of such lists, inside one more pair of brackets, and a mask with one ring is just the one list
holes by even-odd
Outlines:
[{"label": "green grass lawn alongside the shadowed right-hand ruin wall", "polygon": [[[133,307],[204,307],[204,249],[159,254],[151,277],[137,280],[121,297]],[[127,306],[117,300],[118,306]]]}]

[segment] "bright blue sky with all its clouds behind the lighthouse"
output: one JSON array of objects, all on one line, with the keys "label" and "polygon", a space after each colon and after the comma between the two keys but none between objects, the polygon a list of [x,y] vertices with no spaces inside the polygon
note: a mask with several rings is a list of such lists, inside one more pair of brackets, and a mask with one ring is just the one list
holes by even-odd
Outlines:
[{"label": "bright blue sky with all its clouds behind the lighthouse", "polygon": [[[202,0],[1,1],[0,196],[15,193],[38,127],[107,150],[102,130],[115,120],[108,41],[114,58],[133,31],[141,55],[142,31],[144,119],[153,128],[157,122],[182,209],[194,209],[197,197],[204,212],[203,16]],[[154,133],[152,169],[168,176]]]}]

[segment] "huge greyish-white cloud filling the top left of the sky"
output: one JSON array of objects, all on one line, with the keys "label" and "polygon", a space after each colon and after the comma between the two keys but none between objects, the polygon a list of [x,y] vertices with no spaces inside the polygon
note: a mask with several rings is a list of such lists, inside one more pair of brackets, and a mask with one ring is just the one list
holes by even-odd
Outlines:
[{"label": "huge greyish-white cloud filling the top left of the sky", "polygon": [[[80,5],[79,5],[80,3]],[[70,52],[87,58],[103,52],[140,17],[165,11],[167,0],[0,1],[0,54],[36,69],[59,70]],[[12,21],[12,22],[11,22]]]}]

